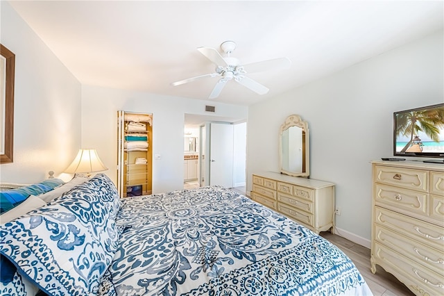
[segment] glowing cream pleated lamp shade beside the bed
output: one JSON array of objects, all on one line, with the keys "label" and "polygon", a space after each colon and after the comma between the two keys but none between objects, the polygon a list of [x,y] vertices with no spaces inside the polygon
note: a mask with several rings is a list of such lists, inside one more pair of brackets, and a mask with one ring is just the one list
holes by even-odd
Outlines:
[{"label": "glowing cream pleated lamp shade beside the bed", "polygon": [[79,149],[74,161],[65,170],[66,173],[89,173],[108,170],[97,155],[96,149]]}]

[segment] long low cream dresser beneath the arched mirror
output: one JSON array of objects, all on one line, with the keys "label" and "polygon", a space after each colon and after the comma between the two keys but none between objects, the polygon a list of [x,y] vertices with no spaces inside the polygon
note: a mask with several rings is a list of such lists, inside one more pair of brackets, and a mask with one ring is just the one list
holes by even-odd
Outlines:
[{"label": "long low cream dresser beneath the arched mirror", "polygon": [[316,233],[333,227],[334,183],[262,172],[253,174],[251,197]]}]

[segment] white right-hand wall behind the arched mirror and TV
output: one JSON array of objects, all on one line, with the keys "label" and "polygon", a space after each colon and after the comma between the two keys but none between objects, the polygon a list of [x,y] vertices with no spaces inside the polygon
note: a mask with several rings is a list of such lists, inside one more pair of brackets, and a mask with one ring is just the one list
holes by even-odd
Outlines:
[{"label": "white right-hand wall behind the arched mirror and TV", "polygon": [[443,102],[443,52],[441,31],[250,106],[247,190],[254,172],[279,170],[279,126],[301,115],[309,123],[310,177],[336,183],[339,234],[369,246],[370,161],[393,156],[393,112]]}]

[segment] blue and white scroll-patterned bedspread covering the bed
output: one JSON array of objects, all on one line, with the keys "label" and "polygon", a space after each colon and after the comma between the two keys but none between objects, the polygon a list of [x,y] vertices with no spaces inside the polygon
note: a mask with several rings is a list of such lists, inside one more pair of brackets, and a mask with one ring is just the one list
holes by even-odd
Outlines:
[{"label": "blue and white scroll-patterned bedspread covering the bed", "polygon": [[371,295],[330,242],[220,186],[124,199],[117,224],[117,295]]}]

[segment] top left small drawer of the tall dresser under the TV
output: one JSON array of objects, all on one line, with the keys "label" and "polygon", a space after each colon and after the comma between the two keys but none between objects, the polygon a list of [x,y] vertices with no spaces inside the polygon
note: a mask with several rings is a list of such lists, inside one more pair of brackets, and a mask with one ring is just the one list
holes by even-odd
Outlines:
[{"label": "top left small drawer of the tall dresser under the TV", "polygon": [[427,176],[427,171],[376,165],[374,178],[378,183],[427,192],[429,190]]}]

